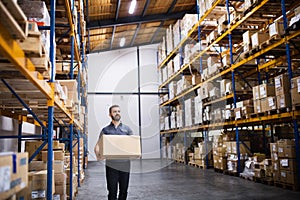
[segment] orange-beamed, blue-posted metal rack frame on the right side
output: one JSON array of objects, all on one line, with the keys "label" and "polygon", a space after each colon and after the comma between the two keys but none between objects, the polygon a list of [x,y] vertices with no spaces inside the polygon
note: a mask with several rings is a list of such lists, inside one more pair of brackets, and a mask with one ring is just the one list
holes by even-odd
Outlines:
[{"label": "orange-beamed, blue-posted metal rack frame on the right side", "polygon": [[[269,4],[268,4],[269,3]],[[284,21],[284,29],[287,30],[287,16],[286,16],[286,4],[292,4],[294,3],[294,5],[296,6],[297,2],[292,2],[292,1],[287,1],[287,0],[281,0],[280,2],[275,2],[275,1],[271,1],[271,0],[261,0],[258,1],[255,5],[255,7],[252,7],[250,10],[248,10],[247,13],[244,13],[244,15],[237,20],[235,23],[231,24],[230,21],[230,14],[229,14],[229,5],[230,2],[228,0],[226,1],[222,1],[222,0],[217,0],[213,3],[213,6],[206,11],[206,13],[199,19],[198,23],[195,24],[193,26],[193,28],[190,30],[190,32],[188,33],[187,37],[185,37],[180,44],[178,44],[178,46],[167,56],[167,58],[160,64],[158,65],[158,70],[160,70],[162,67],[164,67],[164,65],[166,63],[168,63],[174,56],[174,54],[176,54],[178,52],[178,49],[183,46],[186,42],[187,42],[187,38],[189,38],[198,28],[198,35],[199,35],[199,41],[201,40],[200,38],[200,32],[201,32],[201,28],[200,28],[200,24],[205,20],[205,18],[207,16],[210,15],[210,13],[215,9],[215,7],[217,5],[224,5],[226,6],[227,9],[227,13],[228,13],[228,29],[224,31],[223,34],[219,35],[211,44],[209,44],[204,50],[201,50],[188,64],[185,64],[181,67],[181,69],[178,72],[175,72],[174,75],[172,75],[171,77],[169,77],[165,82],[163,82],[160,86],[159,89],[165,88],[171,81],[173,81],[176,77],[178,77],[181,73],[183,73],[185,70],[188,69],[189,65],[194,63],[195,61],[200,59],[200,72],[202,73],[202,66],[201,66],[201,56],[204,55],[206,52],[209,51],[209,49],[211,47],[213,47],[215,44],[218,44],[220,42],[224,42],[224,38],[226,36],[229,37],[229,52],[228,54],[230,55],[230,61],[231,61],[231,65],[227,68],[224,69],[223,71],[221,71],[220,73],[208,78],[207,80],[205,80],[204,82],[201,82],[197,85],[194,85],[192,88],[186,90],[185,92],[179,94],[178,96],[175,96],[173,99],[169,99],[166,102],[163,102],[160,107],[164,107],[167,105],[171,105],[171,104],[176,104],[176,102],[185,97],[186,95],[189,95],[193,92],[196,91],[196,89],[200,88],[203,83],[205,82],[210,82],[213,80],[216,80],[217,78],[220,77],[224,77],[226,75],[231,75],[231,80],[232,80],[232,84],[233,84],[233,94],[229,94],[227,96],[221,97],[219,99],[213,100],[209,103],[206,104],[213,104],[213,103],[218,103],[218,102],[222,102],[222,101],[231,101],[234,103],[234,107],[236,107],[236,102],[237,102],[237,93],[235,91],[235,77],[236,74],[239,74],[238,70],[243,69],[243,65],[245,65],[246,63],[248,63],[249,61],[253,60],[253,59],[259,59],[260,57],[262,57],[264,54],[271,52],[272,50],[275,50],[276,48],[282,47],[284,46],[285,48],[285,52],[284,54],[286,54],[286,59],[283,58],[284,56],[281,56],[279,58],[275,58],[272,61],[269,61],[267,63],[264,64],[258,64],[257,69],[256,68],[251,68],[251,69],[246,69],[247,71],[245,72],[245,77],[248,77],[250,75],[253,74],[258,74],[258,80],[259,83],[261,83],[261,78],[260,78],[260,72],[261,71],[268,71],[271,69],[275,69],[277,66],[282,66],[285,62],[288,63],[287,66],[287,71],[289,74],[289,79],[291,80],[292,76],[293,76],[293,72],[292,72],[292,67],[291,67],[291,55],[295,55],[295,50],[291,50],[290,49],[290,44],[289,42],[293,39],[296,39],[300,36],[300,31],[296,30],[296,31],[292,31],[289,34],[285,34],[283,38],[279,39],[278,41],[275,41],[274,43],[272,43],[271,45],[264,47],[260,50],[258,50],[257,52],[254,52],[253,55],[250,55],[249,57],[241,60],[240,62],[235,63],[233,61],[233,42],[232,42],[232,37],[231,37],[231,33],[234,32],[240,25],[242,25],[242,23],[246,22],[248,19],[251,18],[252,15],[254,15],[256,12],[260,11],[261,9],[265,9],[265,11],[267,11],[266,6],[268,5],[274,5],[274,4],[280,4],[279,6],[281,6],[281,11],[282,11],[282,18]],[[298,3],[299,4],[299,3]],[[298,5],[299,6],[299,5]],[[278,7],[278,5],[277,5]],[[199,9],[198,9],[199,10]],[[270,10],[270,9],[269,9]],[[270,12],[270,11],[269,11]],[[268,13],[268,12],[266,12]],[[273,12],[274,14],[274,12]],[[245,68],[245,67],[244,67]],[[268,73],[266,73],[266,78],[268,78]],[[239,74],[240,75],[240,74]],[[249,83],[248,83],[249,84]],[[171,129],[171,130],[165,130],[165,131],[161,131],[161,136],[167,136],[169,134],[179,134],[181,132],[186,133],[186,131],[196,131],[196,130],[208,130],[208,128],[211,129],[216,129],[216,128],[231,128],[231,129],[235,129],[236,132],[236,145],[237,145],[237,150],[239,150],[239,128],[240,127],[245,127],[245,126],[256,126],[256,125],[263,125],[263,130],[265,130],[265,124],[270,123],[271,125],[273,125],[273,123],[293,123],[293,127],[294,127],[294,138],[295,138],[295,146],[296,146],[296,160],[297,160],[297,172],[298,175],[300,174],[300,152],[299,152],[299,131],[298,131],[298,121],[300,119],[300,112],[298,110],[292,110],[292,111],[288,111],[285,113],[279,113],[279,114],[271,114],[271,115],[265,115],[265,116],[257,116],[254,118],[248,118],[248,119],[239,119],[239,120],[234,120],[234,121],[225,121],[225,122],[221,122],[221,123],[210,123],[210,124],[202,124],[202,125],[194,125],[192,127],[184,127],[184,128],[180,128],[180,129]],[[207,138],[207,136],[206,136]],[[239,168],[240,168],[240,158],[239,158],[239,153],[238,153],[238,172]],[[299,177],[298,177],[298,180]]]}]

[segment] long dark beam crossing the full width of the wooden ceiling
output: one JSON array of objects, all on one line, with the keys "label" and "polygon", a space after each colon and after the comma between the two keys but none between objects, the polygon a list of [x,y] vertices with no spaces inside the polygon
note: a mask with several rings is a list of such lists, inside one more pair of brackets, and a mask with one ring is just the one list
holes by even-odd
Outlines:
[{"label": "long dark beam crossing the full width of the wooden ceiling", "polygon": [[112,26],[122,26],[122,25],[129,25],[129,24],[163,21],[163,20],[170,20],[170,19],[180,19],[186,13],[195,14],[196,9],[193,8],[192,10],[171,13],[169,15],[157,14],[157,15],[147,15],[145,17],[142,16],[124,17],[124,18],[119,18],[117,21],[115,21],[115,19],[90,21],[87,25],[87,29],[97,29],[97,28],[106,28]]}]

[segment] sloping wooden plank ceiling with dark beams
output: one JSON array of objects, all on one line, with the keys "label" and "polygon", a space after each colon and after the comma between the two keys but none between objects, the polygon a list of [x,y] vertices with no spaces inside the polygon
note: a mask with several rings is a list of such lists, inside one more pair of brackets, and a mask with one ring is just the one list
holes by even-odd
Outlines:
[{"label": "sloping wooden plank ceiling with dark beams", "polygon": [[196,13],[195,0],[137,0],[129,14],[131,2],[87,1],[88,53],[158,43],[170,24],[186,13]]}]

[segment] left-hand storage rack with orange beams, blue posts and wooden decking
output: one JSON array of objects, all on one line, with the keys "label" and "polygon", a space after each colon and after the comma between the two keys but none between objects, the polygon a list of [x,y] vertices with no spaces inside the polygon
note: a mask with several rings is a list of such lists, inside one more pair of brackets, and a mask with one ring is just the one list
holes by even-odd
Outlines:
[{"label": "left-hand storage rack with orange beams, blue posts and wooden decking", "polygon": [[[74,0],[72,5],[74,4]],[[1,2],[0,2],[1,3]],[[13,2],[11,2],[13,3]],[[82,45],[82,53],[80,56],[79,46],[77,44],[76,33],[74,30],[73,23],[73,13],[70,7],[70,0],[65,0],[66,11],[68,16],[69,25],[71,27],[71,40],[72,40],[72,53],[71,53],[71,62],[75,59],[78,61],[79,69],[82,70],[81,62],[85,67],[85,52],[84,45]],[[5,9],[1,5],[1,9]],[[52,63],[53,69],[55,66],[55,11],[56,5],[55,1],[50,1],[50,12],[51,20],[50,27],[41,27],[46,30],[50,30],[50,62]],[[5,20],[5,19],[3,19]],[[81,24],[81,23],[79,23]],[[80,33],[79,37],[80,36]],[[22,38],[23,39],[23,38]],[[80,41],[80,39],[79,39]],[[35,71],[35,66],[32,64],[30,59],[25,55],[23,50],[18,45],[17,41],[11,36],[7,27],[4,27],[0,24],[0,57],[1,63],[0,68],[8,71],[8,73],[1,74],[1,94],[4,95],[2,98],[10,98],[9,100],[4,100],[4,104],[0,109],[0,115],[7,116],[19,121],[18,135],[17,136],[0,136],[1,138],[18,138],[18,150],[21,150],[21,140],[24,139],[42,139],[44,140],[43,144],[36,150],[34,155],[29,159],[31,161],[42,149],[48,144],[48,163],[47,163],[47,199],[52,200],[52,160],[53,160],[53,128],[55,126],[69,126],[69,138],[60,138],[61,141],[69,142],[70,150],[70,199],[72,199],[72,168],[73,168],[73,129],[75,128],[78,132],[77,142],[80,137],[86,133],[86,119],[84,119],[84,127],[79,123],[74,117],[74,115],[60,102],[55,98],[54,95],[54,81],[55,81],[55,72],[51,70],[50,80],[45,82],[42,76]],[[73,66],[71,66],[71,78],[73,78]],[[80,70],[78,70],[78,83],[80,84]],[[85,69],[86,70],[86,69]],[[80,84],[81,85],[81,84]],[[7,89],[5,89],[7,88]],[[80,95],[81,88],[78,88]],[[83,89],[82,92],[84,92]],[[8,95],[12,93],[12,95]],[[8,95],[8,96],[7,96]],[[17,98],[17,101],[11,98]],[[86,106],[86,97],[82,98],[84,106]],[[80,97],[79,97],[80,99]],[[27,103],[28,101],[35,100],[38,102],[38,108],[32,107]],[[20,105],[21,104],[21,105]],[[27,116],[22,109],[24,107],[31,116]],[[22,135],[22,122],[29,122],[35,125],[42,127],[42,135]],[[54,124],[56,122],[56,124]],[[81,131],[83,131],[81,134]],[[86,151],[86,149],[85,149]],[[78,152],[80,152],[80,145],[78,144]],[[86,153],[86,152],[85,152]],[[79,156],[78,153],[78,170],[79,167]],[[80,186],[80,171],[78,172],[78,185]]]}]

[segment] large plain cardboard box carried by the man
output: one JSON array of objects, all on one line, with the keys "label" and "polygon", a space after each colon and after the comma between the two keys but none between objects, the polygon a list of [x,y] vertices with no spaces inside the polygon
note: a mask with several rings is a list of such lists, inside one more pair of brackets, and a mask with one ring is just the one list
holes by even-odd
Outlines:
[{"label": "large plain cardboard box carried by the man", "polygon": [[102,135],[95,146],[97,160],[141,157],[140,136]]}]

